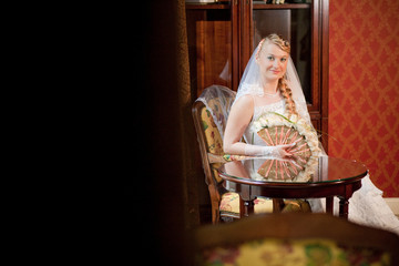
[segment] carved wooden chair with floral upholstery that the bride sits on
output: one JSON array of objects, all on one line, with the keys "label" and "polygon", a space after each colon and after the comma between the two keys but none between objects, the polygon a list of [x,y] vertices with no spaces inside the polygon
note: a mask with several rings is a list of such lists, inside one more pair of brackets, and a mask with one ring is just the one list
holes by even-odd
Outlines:
[{"label": "carved wooden chair with floral upholstery that the bride sits on", "polygon": [[[202,155],[205,183],[207,184],[211,196],[212,222],[216,224],[221,217],[239,218],[244,212],[243,201],[239,198],[239,195],[224,190],[221,184],[223,180],[216,171],[221,163],[239,158],[239,156],[229,156],[223,152],[223,139],[219,129],[214,122],[214,117],[217,117],[219,120],[218,124],[223,126],[226,125],[226,113],[228,112],[226,112],[225,109],[229,109],[233,104],[235,92],[225,86],[213,85],[206,88],[203,93],[212,93],[215,95],[207,102],[208,106],[213,105],[212,111],[205,106],[204,102],[196,101],[193,104],[192,113]],[[282,212],[283,208],[291,212],[297,211],[295,209],[296,205],[285,206],[283,200],[275,198],[272,201],[269,198],[258,197],[255,200],[254,209],[255,214]]]}]

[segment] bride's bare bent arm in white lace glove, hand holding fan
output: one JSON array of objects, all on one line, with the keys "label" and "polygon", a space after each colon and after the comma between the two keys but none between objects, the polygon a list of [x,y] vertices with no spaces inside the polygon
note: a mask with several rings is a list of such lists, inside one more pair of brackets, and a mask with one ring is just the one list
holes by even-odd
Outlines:
[{"label": "bride's bare bent arm in white lace glove, hand holding fan", "polygon": [[290,156],[287,151],[295,144],[260,146],[241,142],[254,115],[254,100],[250,95],[242,96],[234,103],[228,114],[227,125],[224,133],[223,150],[228,154],[239,155],[266,155],[266,156]]}]

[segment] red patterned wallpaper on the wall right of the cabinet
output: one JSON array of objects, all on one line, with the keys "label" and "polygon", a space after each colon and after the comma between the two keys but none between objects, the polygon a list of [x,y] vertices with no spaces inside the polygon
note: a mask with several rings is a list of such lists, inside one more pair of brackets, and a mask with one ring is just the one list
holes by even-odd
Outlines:
[{"label": "red patterned wallpaper on the wall right of the cabinet", "polygon": [[329,155],[399,197],[399,1],[329,2]]}]

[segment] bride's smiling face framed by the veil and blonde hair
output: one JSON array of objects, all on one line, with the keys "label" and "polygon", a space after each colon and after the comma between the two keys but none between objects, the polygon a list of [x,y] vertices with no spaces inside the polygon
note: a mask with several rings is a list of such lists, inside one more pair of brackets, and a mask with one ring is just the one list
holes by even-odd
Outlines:
[{"label": "bride's smiling face framed by the veil and blonde hair", "polygon": [[258,63],[265,80],[275,81],[282,79],[287,70],[288,58],[289,53],[266,41],[258,57]]}]

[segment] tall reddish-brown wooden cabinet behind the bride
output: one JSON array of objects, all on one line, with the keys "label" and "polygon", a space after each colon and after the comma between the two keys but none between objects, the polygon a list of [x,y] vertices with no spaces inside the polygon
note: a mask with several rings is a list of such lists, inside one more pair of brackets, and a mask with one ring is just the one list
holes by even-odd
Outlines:
[{"label": "tall reddish-brown wooden cabinet behind the bride", "polygon": [[[257,43],[278,33],[291,44],[315,127],[328,132],[328,0],[266,2],[186,3],[192,93],[212,84],[236,91]],[[327,151],[325,134],[323,144]]]}]

